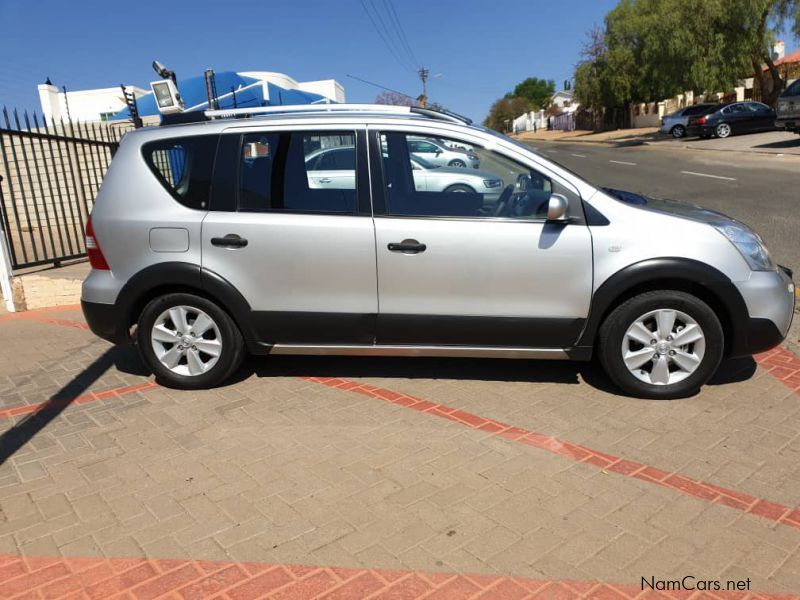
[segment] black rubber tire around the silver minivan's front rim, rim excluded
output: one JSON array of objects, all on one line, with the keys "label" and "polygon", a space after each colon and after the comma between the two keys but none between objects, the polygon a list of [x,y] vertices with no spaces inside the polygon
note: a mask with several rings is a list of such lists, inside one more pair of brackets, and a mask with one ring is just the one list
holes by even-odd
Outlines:
[{"label": "black rubber tire around the silver minivan's front rim, rim excluded", "polygon": [[[659,309],[684,313],[694,319],[705,336],[704,355],[699,365],[685,379],[672,384],[656,385],[640,380],[625,365],[622,355],[628,328],[642,315]],[[645,292],[626,300],[608,315],[598,337],[600,362],[611,380],[632,396],[655,400],[685,398],[697,392],[716,372],[724,347],[725,335],[714,311],[696,296],[675,290]]]}]

